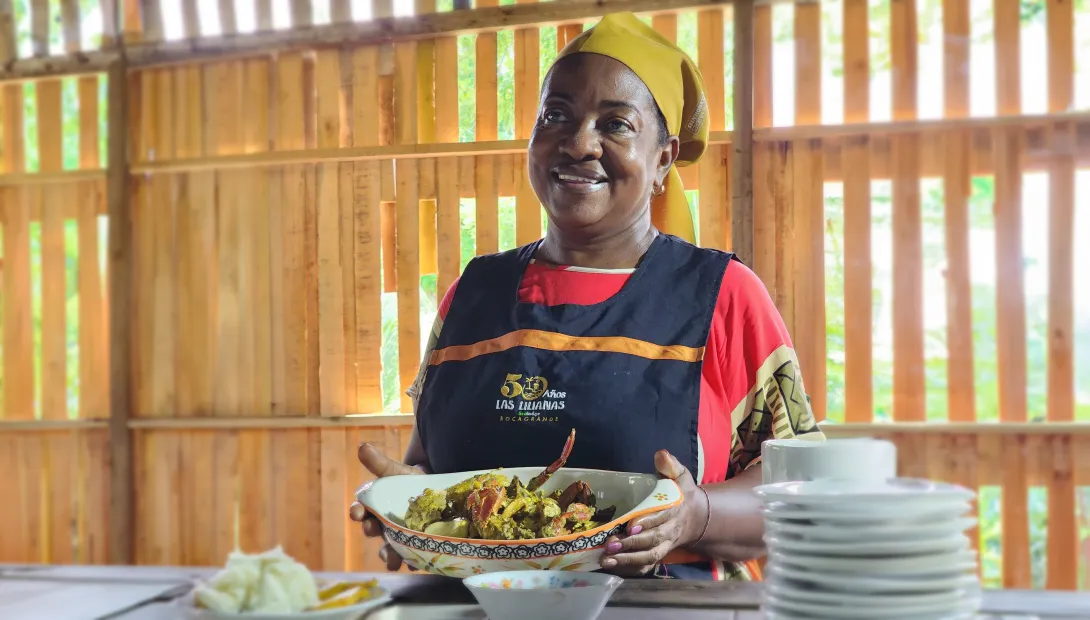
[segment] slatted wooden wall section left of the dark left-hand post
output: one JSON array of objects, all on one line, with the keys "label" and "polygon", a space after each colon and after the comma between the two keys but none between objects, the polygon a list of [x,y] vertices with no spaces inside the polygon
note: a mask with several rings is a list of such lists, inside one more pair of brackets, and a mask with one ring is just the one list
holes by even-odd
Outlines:
[{"label": "slatted wooden wall section left of the dark left-hand post", "polygon": [[[48,8],[32,4],[36,15]],[[71,8],[68,9],[71,20]],[[45,25],[48,27],[48,20]],[[36,37],[41,24],[35,20]],[[0,19],[0,28],[12,32]],[[73,34],[65,29],[72,49]],[[46,29],[48,36],[48,29]],[[0,37],[3,38],[3,37]],[[35,51],[40,52],[35,40]],[[0,53],[11,53],[8,48]],[[10,57],[9,57],[10,58]],[[80,101],[78,169],[99,168],[98,82],[104,76],[73,78]],[[60,80],[34,85],[37,100],[38,170],[61,174],[62,118]],[[26,167],[23,126],[23,86],[2,87],[4,173]],[[17,131],[16,131],[17,130]],[[0,189],[0,221],[3,227],[3,408],[7,421],[95,421],[108,416],[107,344],[105,335],[105,279],[99,264],[99,215],[105,209],[101,181],[5,185]],[[35,233],[37,227],[37,233]],[[75,232],[75,264],[66,229]],[[40,281],[32,279],[34,235],[40,253]],[[68,285],[78,291],[77,342],[69,342]],[[40,324],[35,325],[32,290],[40,287]],[[36,330],[40,350],[36,366]],[[74,344],[74,347],[73,347]],[[69,356],[78,351],[80,363],[70,372]],[[74,374],[75,376],[70,376]],[[80,397],[72,400],[69,386],[78,381]],[[109,443],[105,429],[70,429],[0,435],[5,471],[0,493],[13,499],[0,515],[0,557],[5,561],[102,563],[108,551]]]}]

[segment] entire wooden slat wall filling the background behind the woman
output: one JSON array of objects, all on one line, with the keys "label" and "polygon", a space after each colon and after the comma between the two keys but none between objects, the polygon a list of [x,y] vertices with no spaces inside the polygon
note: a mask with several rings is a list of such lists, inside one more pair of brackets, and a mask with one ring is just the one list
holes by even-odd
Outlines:
[{"label": "entire wooden slat wall filling the background behind the woman", "polygon": [[[166,0],[164,0],[166,1]],[[1018,4],[995,0],[998,60],[1019,53]],[[1090,433],[1074,421],[1075,170],[1090,166],[1090,117],[1073,113],[1073,8],[1047,1],[1049,114],[1022,116],[1018,72],[998,74],[997,118],[969,119],[968,0],[944,0],[945,109],[919,121],[916,3],[892,0],[893,122],[870,122],[868,2],[843,2],[843,125],[822,125],[821,13],[795,5],[792,126],[772,126],[771,7],[707,0],[658,2],[656,29],[677,36],[677,12],[699,11],[698,60],[708,89],[713,146],[686,169],[700,192],[700,242],[748,253],[794,335],[815,412],[824,416],[824,183],[844,185],[845,312],[871,317],[871,181],[893,183],[894,418],[873,422],[872,333],[846,335],[846,422],[831,435],[888,434],[903,471],[1003,488],[1003,583],[1030,585],[1031,486],[1049,489],[1047,586],[1078,586],[1076,487],[1090,485]],[[476,254],[499,247],[498,203],[516,200],[516,241],[542,234],[525,180],[524,148],[541,81],[541,29],[559,24],[557,47],[603,10],[628,4],[557,1],[353,26],[350,3],[331,0],[329,26],[305,0],[290,3],[290,31],[272,29],[272,3],[255,3],[257,34],[239,34],[219,2],[222,36],[202,32],[197,2],[181,3],[190,42],[164,41],[157,0],[104,3],[100,50],[49,58],[45,0],[32,0],[34,57],[0,72],[0,217],[3,226],[3,408],[0,421],[0,561],[218,564],[240,545],[284,545],[313,568],[378,570],[374,542],[347,520],[365,475],[361,441],[403,453],[411,417],[383,415],[382,308],[397,293],[400,387],[420,361],[420,276],[443,291],[460,268],[459,200],[475,202]],[[651,3],[632,2],[637,10]],[[61,3],[70,52],[81,50],[78,5]],[[533,16],[529,9],[540,9]],[[752,28],[736,15],[752,11]],[[2,10],[0,10],[2,13]],[[74,16],[73,16],[74,13]],[[14,54],[0,14],[0,60]],[[111,17],[112,16],[112,17]],[[384,21],[385,20],[385,21]],[[400,25],[399,25],[400,24]],[[405,25],[410,24],[410,25]],[[415,24],[415,25],[412,25]],[[514,138],[498,139],[496,31],[514,28]],[[112,33],[121,33],[121,37]],[[401,33],[393,42],[388,33]],[[475,142],[458,142],[458,34],[479,32]],[[724,49],[753,41],[752,52]],[[120,40],[119,40],[120,39]],[[194,40],[198,42],[193,42]],[[204,42],[199,42],[204,41]],[[110,56],[118,45],[125,59]],[[192,54],[192,58],[186,54]],[[83,64],[77,60],[82,58]],[[189,58],[189,59],[187,59]],[[111,101],[123,110],[110,136],[126,148],[99,156],[99,83],[111,68]],[[753,142],[727,131],[731,84],[752,75]],[[20,74],[20,71],[25,71]],[[81,157],[62,170],[60,82],[78,72]],[[89,73],[88,73],[89,72]],[[39,169],[25,167],[23,84],[38,98]],[[782,80],[782,78],[779,78]],[[124,104],[123,107],[122,102]],[[747,127],[748,129],[748,127]],[[737,169],[739,163],[742,168]],[[752,167],[752,179],[744,171]],[[1026,415],[1021,280],[1021,175],[1050,174],[1049,425]],[[967,202],[970,178],[996,180],[994,259],[1000,280],[998,350],[1004,424],[974,425]],[[921,425],[923,276],[920,179],[944,181],[947,240],[949,426]],[[108,191],[108,182],[114,190]],[[747,186],[752,186],[751,203]],[[107,200],[107,195],[111,196]],[[109,269],[99,264],[99,218],[111,219]],[[747,219],[751,218],[751,219]],[[751,221],[751,228],[742,224]],[[78,262],[65,266],[66,227]],[[40,227],[40,282],[31,281],[31,231]],[[117,234],[117,231],[122,231]],[[65,273],[77,273],[78,338],[65,333]],[[108,278],[109,277],[109,278]],[[107,287],[107,279],[129,282]],[[111,281],[113,281],[111,279]],[[40,326],[32,291],[40,287]],[[123,290],[121,290],[123,289]],[[112,304],[112,305],[111,305]],[[125,329],[108,332],[107,317]],[[39,331],[35,331],[39,330]],[[34,335],[40,332],[40,343]],[[34,351],[40,347],[36,378]],[[68,356],[78,351],[80,398],[64,398]],[[112,389],[111,389],[112,387]],[[124,398],[119,397],[119,390]],[[402,411],[410,410],[402,399]],[[367,414],[346,417],[348,414]],[[109,421],[108,421],[109,418]],[[112,439],[111,439],[112,438]],[[129,449],[131,448],[131,454]],[[113,475],[110,474],[112,454]],[[112,494],[112,495],[111,495]],[[110,509],[113,498],[113,510]],[[119,503],[120,498],[120,503]],[[131,511],[129,507],[131,506]],[[123,537],[124,540],[119,540]],[[111,552],[108,552],[111,551]]]}]

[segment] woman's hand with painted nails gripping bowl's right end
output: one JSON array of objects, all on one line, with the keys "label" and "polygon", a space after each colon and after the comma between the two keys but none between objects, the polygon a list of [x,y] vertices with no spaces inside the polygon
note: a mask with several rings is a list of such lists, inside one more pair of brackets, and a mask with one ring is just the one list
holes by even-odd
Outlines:
[{"label": "woman's hand with painted nails gripping bowl's right end", "polygon": [[602,568],[619,575],[643,575],[655,568],[666,554],[697,543],[707,523],[705,491],[697,486],[689,470],[666,450],[655,453],[655,470],[681,487],[685,501],[676,508],[656,512],[628,524],[623,537],[606,540]]}]

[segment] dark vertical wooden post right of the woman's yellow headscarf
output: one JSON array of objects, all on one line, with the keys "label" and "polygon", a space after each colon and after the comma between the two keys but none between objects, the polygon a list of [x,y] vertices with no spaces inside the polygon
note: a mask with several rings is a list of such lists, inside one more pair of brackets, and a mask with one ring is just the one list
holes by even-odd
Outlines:
[{"label": "dark vertical wooden post right of the woman's yellow headscarf", "polygon": [[731,173],[730,247],[753,259],[753,0],[735,2],[735,129]]}]

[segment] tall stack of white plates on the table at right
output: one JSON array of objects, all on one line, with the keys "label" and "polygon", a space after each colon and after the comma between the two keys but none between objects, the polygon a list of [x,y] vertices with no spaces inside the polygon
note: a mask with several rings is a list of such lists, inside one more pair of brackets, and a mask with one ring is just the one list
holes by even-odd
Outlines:
[{"label": "tall stack of white plates on the table at right", "polygon": [[980,608],[973,493],[911,478],[756,488],[768,620],[960,620]]}]

